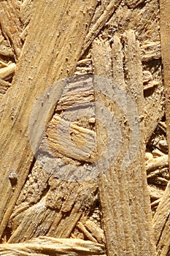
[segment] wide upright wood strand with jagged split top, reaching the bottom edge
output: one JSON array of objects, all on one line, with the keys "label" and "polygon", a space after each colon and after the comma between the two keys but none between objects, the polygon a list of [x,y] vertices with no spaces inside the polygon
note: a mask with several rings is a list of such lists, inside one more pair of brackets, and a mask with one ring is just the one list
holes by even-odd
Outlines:
[{"label": "wide upright wood strand with jagged split top, reaching the bottom edge", "polygon": [[[116,63],[113,62],[113,70],[115,71],[114,77],[115,81],[120,83],[121,86],[127,86],[127,94],[131,94],[134,102],[136,102],[139,116],[141,116],[141,125],[143,127],[144,112],[142,106],[144,105],[144,98],[142,62],[139,57],[139,44],[136,42],[134,31],[125,32],[123,39],[125,44],[124,68],[127,70],[126,79],[124,80],[124,75],[121,73],[123,72],[122,51],[115,50],[115,47],[123,47],[120,46],[120,39],[118,39],[118,37],[115,37],[115,44],[112,45],[113,57],[116,61]],[[103,44],[104,47],[102,46]],[[96,75],[106,77],[110,76],[112,78],[112,61],[110,59],[110,52],[111,48],[109,44],[102,42],[102,40],[93,42],[92,56]],[[117,55],[117,57],[115,55]],[[116,72],[115,69],[117,67],[120,67],[120,69]],[[137,87],[136,84],[138,85]],[[109,91],[110,97],[112,97],[112,94],[114,95],[114,93],[114,91]],[[100,103],[102,102],[100,94],[96,94],[95,99]],[[107,104],[107,99],[105,99],[104,105],[107,106]],[[109,104],[111,104],[111,102]],[[115,105],[115,108],[117,113],[119,113],[117,105]],[[131,110],[128,110],[128,106],[126,108],[127,112],[131,113]],[[112,107],[112,109],[114,108]],[[98,109],[96,108],[96,115],[98,116],[98,114]],[[134,115],[134,113],[131,114]],[[126,116],[126,118],[127,123],[130,116]],[[107,120],[107,122],[109,122],[109,120]],[[124,146],[126,143],[129,143],[127,141],[128,124],[125,126],[126,123],[124,119],[120,118],[120,127],[122,129],[121,132],[123,132],[122,136]],[[96,131],[98,135],[104,132],[102,129],[103,128],[98,126],[97,123]],[[117,134],[115,136],[115,138],[117,138]],[[109,158],[109,156],[107,156],[105,163],[99,166],[102,170],[102,174],[100,176],[99,195],[108,255],[155,255],[155,246],[152,241],[153,234],[151,228],[150,200],[146,184],[144,155],[142,155],[142,152],[144,151],[144,135],[139,135],[136,132],[136,136],[139,136],[140,140],[139,151],[136,153],[135,159],[132,160],[130,166],[126,170],[121,170],[125,152],[120,152],[120,156],[118,157],[115,165],[112,165],[111,162],[109,163],[112,157]],[[104,150],[103,146],[100,145],[102,140],[100,140],[100,137],[98,138],[98,152],[99,154],[102,154]],[[128,140],[131,139],[128,138]],[[134,140],[137,140],[137,138]],[[129,162],[128,159],[126,159],[126,161]],[[110,167],[107,170],[108,165]],[[141,197],[141,195],[143,196]]]}]

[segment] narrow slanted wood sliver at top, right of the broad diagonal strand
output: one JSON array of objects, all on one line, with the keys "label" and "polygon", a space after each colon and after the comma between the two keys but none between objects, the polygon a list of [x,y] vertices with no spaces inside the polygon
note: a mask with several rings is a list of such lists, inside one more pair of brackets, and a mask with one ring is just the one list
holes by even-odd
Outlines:
[{"label": "narrow slanted wood sliver at top, right of the broad diagonal strand", "polygon": [[87,34],[87,37],[85,38],[85,43],[82,48],[82,53],[85,53],[85,50],[90,46],[90,44],[93,42],[93,40],[98,35],[99,31],[103,28],[103,26],[107,23],[107,20],[112,16],[112,14],[115,12],[117,7],[119,6],[121,0],[112,0],[109,2],[109,4],[106,7],[106,10],[102,13],[102,15],[98,18],[96,23],[90,28],[90,31]]}]

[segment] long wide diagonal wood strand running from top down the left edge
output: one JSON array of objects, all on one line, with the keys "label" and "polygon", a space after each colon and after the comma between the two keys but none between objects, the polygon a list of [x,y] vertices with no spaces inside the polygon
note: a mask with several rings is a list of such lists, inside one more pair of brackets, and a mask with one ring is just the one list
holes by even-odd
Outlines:
[{"label": "long wide diagonal wood strand running from top down the left edge", "polygon": [[[1,1],[1,4],[3,9],[5,7],[9,10],[6,1]],[[15,80],[12,89],[3,99],[6,106],[0,124],[0,194],[4,195],[0,199],[0,236],[34,159],[28,136],[31,110],[45,89],[60,78],[73,75],[96,4],[96,0],[85,1],[83,5],[80,0],[62,0],[59,5],[54,0],[34,2],[28,37],[16,69]],[[72,15],[75,15],[74,22]],[[61,90],[61,86],[58,86],[58,95],[61,95]],[[50,114],[52,112],[53,110]],[[34,124],[36,132],[31,134],[35,147],[39,146],[42,126],[45,124],[44,115],[43,111],[39,113]],[[15,187],[12,187],[9,180],[11,170],[18,177]]]}]

